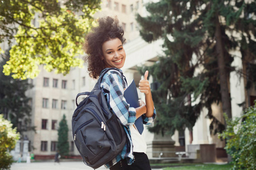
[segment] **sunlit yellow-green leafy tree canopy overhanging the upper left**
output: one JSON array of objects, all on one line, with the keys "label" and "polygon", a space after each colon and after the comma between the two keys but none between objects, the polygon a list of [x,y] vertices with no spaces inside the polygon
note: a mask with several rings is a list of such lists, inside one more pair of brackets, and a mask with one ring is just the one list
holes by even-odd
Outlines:
[{"label": "sunlit yellow-green leafy tree canopy overhanging the upper left", "polygon": [[[5,75],[35,78],[39,65],[65,75],[71,67],[82,66],[77,56],[82,54],[83,37],[95,24],[92,16],[100,2],[0,1],[0,42],[12,45]],[[13,40],[15,43],[11,43]]]}]

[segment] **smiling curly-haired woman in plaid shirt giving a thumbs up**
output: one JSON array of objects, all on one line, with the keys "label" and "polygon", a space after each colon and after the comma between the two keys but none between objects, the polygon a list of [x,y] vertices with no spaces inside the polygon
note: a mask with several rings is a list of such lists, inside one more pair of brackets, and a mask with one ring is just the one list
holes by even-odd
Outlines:
[{"label": "smiling curly-haired woman in plaid shirt giving a thumbs up", "polygon": [[101,81],[101,88],[104,92],[110,111],[116,114],[127,134],[127,143],[122,152],[105,167],[114,169],[151,169],[147,158],[146,142],[134,126],[134,121],[143,115],[144,124],[151,124],[156,112],[152,101],[150,85],[147,80],[148,71],[144,79],[139,82],[139,90],[145,94],[145,101],[139,101],[140,107],[129,107],[126,103],[123,92],[127,87],[122,70],[125,64],[126,54],[123,49],[123,29],[117,18],[107,16],[98,20],[98,27],[93,28],[85,37],[85,62],[88,63],[89,75],[98,78],[102,70],[108,67],[119,69],[109,70]]}]

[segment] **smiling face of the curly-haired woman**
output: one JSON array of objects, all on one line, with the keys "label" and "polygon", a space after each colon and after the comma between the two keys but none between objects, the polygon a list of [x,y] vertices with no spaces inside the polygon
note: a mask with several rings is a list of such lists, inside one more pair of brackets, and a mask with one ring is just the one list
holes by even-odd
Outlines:
[{"label": "smiling face of the curly-haired woman", "polygon": [[121,69],[125,64],[125,50],[123,49],[122,41],[118,38],[105,41],[102,44],[102,53],[106,67]]}]

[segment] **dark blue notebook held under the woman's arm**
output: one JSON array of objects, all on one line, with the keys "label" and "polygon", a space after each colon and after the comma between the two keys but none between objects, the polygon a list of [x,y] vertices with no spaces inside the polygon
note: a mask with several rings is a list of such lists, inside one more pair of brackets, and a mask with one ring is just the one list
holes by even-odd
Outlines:
[{"label": "dark blue notebook held under the woman's arm", "polygon": [[[125,96],[126,102],[130,104],[130,107],[134,107],[134,108],[139,107],[139,97],[138,97],[137,87],[136,87],[134,80],[126,88],[123,96]],[[142,134],[142,132],[144,130],[142,116],[137,118],[137,120],[135,120],[134,124],[135,124],[137,130],[139,131],[139,133]]]}]

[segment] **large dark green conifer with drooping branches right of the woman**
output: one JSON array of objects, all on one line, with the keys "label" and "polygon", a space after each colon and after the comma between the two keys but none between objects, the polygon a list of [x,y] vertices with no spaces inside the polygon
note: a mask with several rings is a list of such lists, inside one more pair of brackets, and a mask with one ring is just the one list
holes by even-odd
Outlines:
[{"label": "large dark green conifer with drooping branches right of the woman", "polygon": [[146,10],[147,16],[137,15],[142,38],[164,40],[164,56],[146,68],[160,84],[152,92],[160,115],[151,130],[173,134],[187,127],[191,131],[203,107],[218,125],[216,130],[223,130],[211,105],[221,101],[222,111],[232,117],[229,74],[240,70],[231,65],[237,56],[229,52],[240,49],[243,65],[255,59],[256,20],[252,16],[256,3],[162,0],[148,3]]}]

